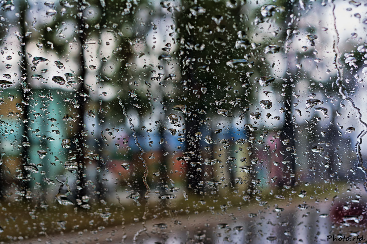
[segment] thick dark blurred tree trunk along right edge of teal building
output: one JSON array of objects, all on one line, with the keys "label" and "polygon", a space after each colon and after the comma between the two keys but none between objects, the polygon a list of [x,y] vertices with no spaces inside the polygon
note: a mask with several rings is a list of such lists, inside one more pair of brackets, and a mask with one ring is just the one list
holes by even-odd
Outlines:
[{"label": "thick dark blurred tree trunk along right edge of teal building", "polygon": [[[79,1],[79,7],[82,7],[83,2]],[[88,91],[86,90],[85,86],[84,86],[84,82],[86,79],[86,70],[84,68],[84,66],[86,65],[85,63],[85,57],[84,57],[84,48],[83,45],[85,44],[85,40],[86,40],[86,28],[85,28],[85,23],[84,23],[84,14],[82,14],[80,16],[80,18],[77,19],[78,21],[78,30],[79,30],[79,34],[78,34],[78,40],[80,43],[80,56],[79,56],[79,68],[80,68],[80,83],[79,83],[79,88],[77,90],[77,94],[76,94],[76,99],[77,102],[79,104],[79,108],[76,109],[76,134],[75,134],[75,139],[76,139],[76,162],[78,164],[78,179],[77,179],[77,196],[76,198],[79,199],[80,201],[82,200],[82,197],[87,195],[87,178],[85,175],[85,167],[86,167],[86,159],[84,158],[84,155],[86,154],[85,152],[85,146],[84,146],[84,142],[86,141],[84,136],[83,136],[83,132],[84,132],[84,112],[86,110],[86,98],[82,97],[81,95],[83,93],[88,94]],[[81,202],[79,202],[78,204],[80,204]]]}]

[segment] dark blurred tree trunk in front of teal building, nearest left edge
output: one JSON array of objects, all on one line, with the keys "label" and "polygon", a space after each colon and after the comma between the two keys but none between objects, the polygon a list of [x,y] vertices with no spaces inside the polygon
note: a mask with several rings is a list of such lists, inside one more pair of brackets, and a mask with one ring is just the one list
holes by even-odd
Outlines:
[{"label": "dark blurred tree trunk in front of teal building, nearest left edge", "polygon": [[[24,192],[25,196],[27,191],[30,188],[30,179],[28,177],[28,172],[25,170],[25,165],[29,163],[30,156],[30,123],[29,123],[29,111],[30,111],[30,102],[32,92],[30,91],[30,87],[28,84],[28,63],[26,57],[26,45],[28,42],[28,38],[26,37],[27,27],[26,27],[26,12],[28,9],[28,3],[25,1],[20,1],[20,16],[19,16],[19,24],[21,28],[22,35],[22,43],[21,43],[21,52],[22,52],[22,60],[21,60],[21,98],[22,98],[22,108],[23,108],[23,135],[21,136],[21,153],[19,154],[21,164],[21,174],[22,179],[20,179],[20,187],[21,191]],[[29,145],[27,144],[29,143]]]}]

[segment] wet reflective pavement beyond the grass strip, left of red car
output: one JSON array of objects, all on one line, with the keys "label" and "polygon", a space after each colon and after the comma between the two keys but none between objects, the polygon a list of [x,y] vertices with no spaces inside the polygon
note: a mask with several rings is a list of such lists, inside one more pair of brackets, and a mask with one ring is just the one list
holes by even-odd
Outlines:
[{"label": "wet reflective pavement beyond the grass strip, left of red car", "polygon": [[[79,233],[66,233],[23,241],[19,244],[81,244],[81,243],[328,243],[331,218],[320,215],[328,213],[331,199],[327,202],[305,199],[308,209],[298,209],[297,201],[267,207],[228,209],[221,213],[179,215],[174,218],[153,219],[142,223],[108,227],[101,230],[88,230]],[[319,213],[316,213],[319,211]],[[237,226],[237,227],[236,227]],[[346,229],[345,229],[346,230]],[[346,233],[348,234],[348,233]]]}]

